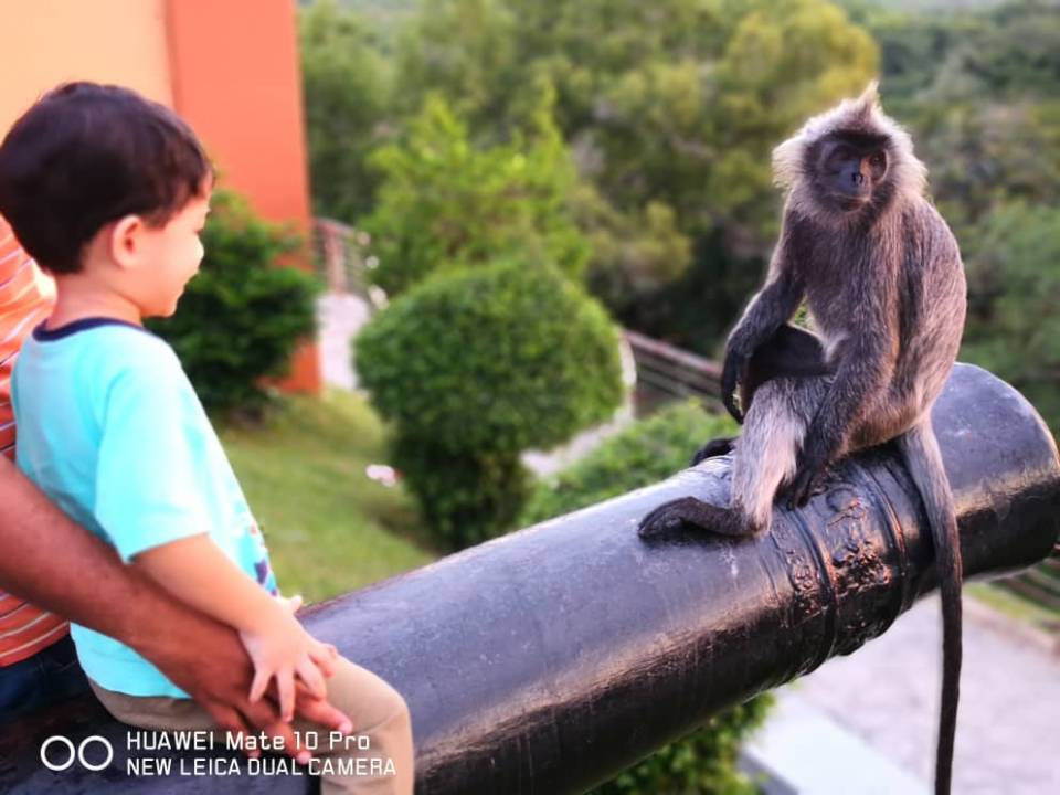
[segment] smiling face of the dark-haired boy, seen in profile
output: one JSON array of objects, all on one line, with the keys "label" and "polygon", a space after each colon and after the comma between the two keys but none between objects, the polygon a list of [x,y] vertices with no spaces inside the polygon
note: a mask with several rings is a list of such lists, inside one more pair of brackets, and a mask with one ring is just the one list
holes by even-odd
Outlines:
[{"label": "smiling face of the dark-haired boy, seen in profile", "polygon": [[136,303],[144,317],[169,317],[184,286],[199,272],[203,248],[199,234],[210,212],[210,191],[191,200],[163,226],[144,230],[141,251],[146,267],[137,279]]}]

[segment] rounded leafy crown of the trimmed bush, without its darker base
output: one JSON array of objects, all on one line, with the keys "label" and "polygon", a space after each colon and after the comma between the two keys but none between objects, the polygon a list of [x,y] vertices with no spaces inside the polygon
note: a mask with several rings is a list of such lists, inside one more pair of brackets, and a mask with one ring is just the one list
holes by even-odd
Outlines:
[{"label": "rounded leafy crown of the trimmed bush, without its darker base", "polygon": [[428,279],[357,339],[358,372],[401,433],[449,451],[551,447],[622,400],[618,335],[549,266]]}]

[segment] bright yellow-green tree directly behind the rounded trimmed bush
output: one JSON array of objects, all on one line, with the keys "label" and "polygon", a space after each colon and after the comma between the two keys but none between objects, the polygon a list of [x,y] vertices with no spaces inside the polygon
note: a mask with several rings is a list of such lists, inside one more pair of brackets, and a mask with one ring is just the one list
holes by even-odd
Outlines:
[{"label": "bright yellow-green tree directly behind the rounded trimmed bush", "polygon": [[577,173],[544,103],[531,135],[480,148],[431,97],[407,139],[373,155],[383,181],[361,225],[377,284],[396,295],[436,271],[513,254],[581,277],[591,250],[574,220]]}]

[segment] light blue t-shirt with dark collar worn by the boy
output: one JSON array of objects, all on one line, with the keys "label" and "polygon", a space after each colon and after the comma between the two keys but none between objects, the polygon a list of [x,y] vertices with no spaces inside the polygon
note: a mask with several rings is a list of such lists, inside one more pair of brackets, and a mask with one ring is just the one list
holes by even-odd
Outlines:
[{"label": "light blue t-shirt with dark collar worn by the boy", "polygon": [[[19,468],[124,561],[205,532],[276,593],[257,523],[166,342],[105,318],[38,327],[22,347],[11,394]],[[76,624],[71,635],[85,672],[106,689],[188,697],[125,644]]]}]

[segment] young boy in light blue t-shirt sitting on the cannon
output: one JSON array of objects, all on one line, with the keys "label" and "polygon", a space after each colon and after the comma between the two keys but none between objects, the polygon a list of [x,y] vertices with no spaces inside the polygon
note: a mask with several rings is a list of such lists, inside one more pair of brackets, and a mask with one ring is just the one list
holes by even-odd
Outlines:
[{"label": "young boy in light blue t-shirt sitting on the cannon", "polygon": [[[352,732],[367,743],[332,749],[320,738],[325,792],[411,793],[404,701],[294,617],[300,600],[279,596],[176,354],[141,325],[172,315],[199,268],[212,179],[180,118],[117,86],[60,86],[11,128],[0,146],[0,213],[57,289],[15,367],[18,465],[127,563],[240,632],[255,666],[252,700],[275,679],[290,720],[297,679],[357,720]],[[150,729],[214,725],[128,646],[76,624],[71,634],[115,718]]]}]

